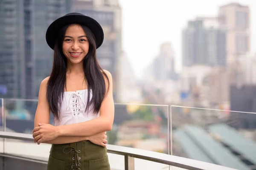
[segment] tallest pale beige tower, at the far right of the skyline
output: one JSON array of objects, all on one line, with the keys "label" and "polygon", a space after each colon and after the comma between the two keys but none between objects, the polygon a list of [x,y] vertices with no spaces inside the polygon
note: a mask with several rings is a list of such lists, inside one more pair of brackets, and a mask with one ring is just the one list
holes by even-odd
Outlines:
[{"label": "tallest pale beige tower, at the far right of the skyline", "polygon": [[227,60],[232,62],[250,51],[250,9],[239,3],[219,8],[219,23],[226,31]]}]

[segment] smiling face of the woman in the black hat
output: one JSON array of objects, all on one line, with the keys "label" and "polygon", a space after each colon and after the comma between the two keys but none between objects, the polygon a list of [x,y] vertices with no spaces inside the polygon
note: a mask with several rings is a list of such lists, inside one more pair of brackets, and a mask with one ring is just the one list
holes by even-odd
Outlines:
[{"label": "smiling face of the woman in the black hat", "polygon": [[89,41],[80,25],[70,25],[67,28],[62,51],[68,62],[73,64],[78,64],[84,59],[89,51]]}]

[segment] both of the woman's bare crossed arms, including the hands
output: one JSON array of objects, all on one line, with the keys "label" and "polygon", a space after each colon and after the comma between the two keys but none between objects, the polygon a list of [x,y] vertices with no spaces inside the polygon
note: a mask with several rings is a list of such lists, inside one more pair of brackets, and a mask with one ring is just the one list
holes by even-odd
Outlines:
[{"label": "both of the woman's bare crossed arms, including the hands", "polygon": [[49,125],[50,109],[46,97],[49,78],[44,79],[41,82],[38,107],[35,113],[35,128],[33,130],[35,142],[38,144],[64,144],[92,140],[100,143],[99,145],[104,145],[104,142],[106,142],[106,139],[104,139],[106,138],[105,132],[112,129],[114,119],[112,77],[108,71],[106,71],[106,74],[110,82],[109,91],[102,102],[100,116],[87,122],[62,126]]}]

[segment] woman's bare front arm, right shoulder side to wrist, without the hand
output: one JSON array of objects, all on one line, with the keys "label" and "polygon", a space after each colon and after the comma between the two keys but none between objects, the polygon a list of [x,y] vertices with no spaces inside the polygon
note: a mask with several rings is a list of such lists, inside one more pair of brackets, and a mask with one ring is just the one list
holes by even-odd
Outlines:
[{"label": "woman's bare front arm, right shoulder side to wrist, without the hand", "polygon": [[[102,102],[100,116],[87,122],[58,126],[58,136],[93,136],[112,129],[114,120],[112,76],[105,71],[109,79],[109,91]],[[108,82],[106,81],[108,87]]]}]

